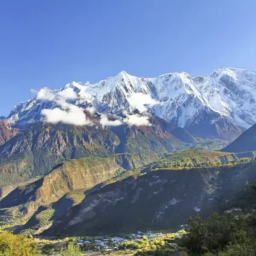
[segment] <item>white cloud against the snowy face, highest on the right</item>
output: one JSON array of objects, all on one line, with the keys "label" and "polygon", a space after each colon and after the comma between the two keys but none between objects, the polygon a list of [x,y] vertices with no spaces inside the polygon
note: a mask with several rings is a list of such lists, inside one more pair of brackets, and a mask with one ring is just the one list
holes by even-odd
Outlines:
[{"label": "white cloud against the snowy face, highest on the right", "polygon": [[152,99],[150,95],[144,93],[131,93],[130,98],[128,98],[128,102],[133,108],[136,108],[141,113],[147,111],[145,105],[153,106],[160,104],[159,101]]}]

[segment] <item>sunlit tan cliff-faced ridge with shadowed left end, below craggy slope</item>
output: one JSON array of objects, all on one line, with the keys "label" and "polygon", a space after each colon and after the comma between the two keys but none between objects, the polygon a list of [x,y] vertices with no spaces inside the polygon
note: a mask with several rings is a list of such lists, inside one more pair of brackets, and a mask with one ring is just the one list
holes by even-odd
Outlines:
[{"label": "sunlit tan cliff-faced ridge with shadowed left end, below craggy slope", "polygon": [[70,191],[77,189],[85,191],[125,170],[141,167],[161,156],[163,154],[154,152],[117,154],[102,158],[80,158],[58,164],[41,179],[19,186],[6,195],[0,201],[1,219],[4,221],[6,216],[28,217],[39,206],[56,202]]}]

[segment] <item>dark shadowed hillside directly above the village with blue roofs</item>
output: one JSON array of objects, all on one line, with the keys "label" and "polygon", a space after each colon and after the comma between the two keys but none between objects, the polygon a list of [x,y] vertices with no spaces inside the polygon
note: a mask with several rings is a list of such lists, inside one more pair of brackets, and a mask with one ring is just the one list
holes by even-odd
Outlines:
[{"label": "dark shadowed hillside directly above the village with blue roofs", "polygon": [[237,207],[255,181],[255,162],[193,169],[159,169],[103,186],[53,222],[45,235],[173,230],[189,216]]}]

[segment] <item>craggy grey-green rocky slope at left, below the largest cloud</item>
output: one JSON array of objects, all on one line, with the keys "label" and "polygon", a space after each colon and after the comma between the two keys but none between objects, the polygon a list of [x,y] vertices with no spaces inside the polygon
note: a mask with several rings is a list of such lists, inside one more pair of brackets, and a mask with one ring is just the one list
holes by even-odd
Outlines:
[{"label": "craggy grey-green rocky slope at left, below the largest cloud", "polygon": [[44,175],[64,160],[104,157],[115,152],[118,137],[110,130],[68,125],[26,128],[0,146],[0,186]]}]

